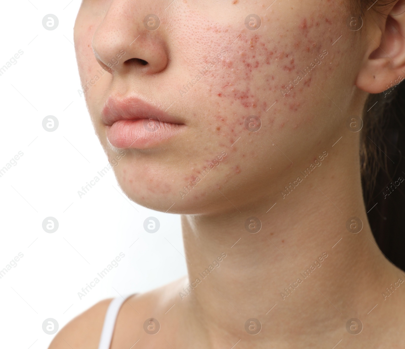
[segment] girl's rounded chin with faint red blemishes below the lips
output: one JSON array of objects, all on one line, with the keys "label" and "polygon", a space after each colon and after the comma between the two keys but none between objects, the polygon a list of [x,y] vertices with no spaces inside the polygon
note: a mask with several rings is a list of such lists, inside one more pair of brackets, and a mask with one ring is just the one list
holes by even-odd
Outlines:
[{"label": "girl's rounded chin with faint red blemishes below the lips", "polygon": [[162,162],[147,155],[126,154],[113,169],[122,191],[135,203],[152,210],[207,214],[228,206],[234,209],[220,193],[228,196],[232,192],[226,183],[229,176],[224,165],[190,175],[190,168],[182,167],[180,159]]}]

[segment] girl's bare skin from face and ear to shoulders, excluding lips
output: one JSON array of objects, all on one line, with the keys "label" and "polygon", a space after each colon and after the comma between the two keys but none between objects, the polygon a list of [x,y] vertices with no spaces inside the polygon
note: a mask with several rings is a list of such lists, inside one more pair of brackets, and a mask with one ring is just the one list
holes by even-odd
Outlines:
[{"label": "girl's bare skin from face and ear to shoulders, excluding lips", "polygon": [[[185,125],[158,146],[126,149],[114,167],[132,200],[183,214],[189,275],[124,304],[113,349],[139,338],[140,347],[179,349],[405,345],[396,311],[404,293],[381,298],[402,272],[376,247],[362,199],[360,132],[346,127],[368,93],[405,75],[403,7],[401,0],[383,15],[369,11],[353,31],[347,1],[83,1],[75,25],[82,84],[125,51],[85,93],[107,156],[121,151],[101,121],[111,95],[136,94]],[[147,14],[160,18],[157,30],[143,26]],[[258,30],[245,26],[249,14],[260,16]],[[245,128],[252,116],[261,120],[257,132]],[[364,224],[360,233],[346,229],[353,216]],[[260,219],[259,232],[245,229],[249,217]],[[181,300],[222,253],[220,267]],[[324,253],[322,266],[284,298]],[[100,325],[82,328],[100,307],[68,325],[64,338],[81,348],[94,336],[96,347]],[[161,322],[155,336],[143,331],[149,317]],[[256,336],[244,329],[250,318],[262,323]],[[351,318],[362,321],[361,335],[346,331]]]}]

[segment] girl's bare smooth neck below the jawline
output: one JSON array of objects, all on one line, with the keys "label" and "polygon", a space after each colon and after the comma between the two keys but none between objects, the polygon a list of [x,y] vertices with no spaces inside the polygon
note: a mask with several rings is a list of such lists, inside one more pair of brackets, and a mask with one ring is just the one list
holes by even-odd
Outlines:
[{"label": "girl's bare smooth neck below the jawline", "polygon": [[[302,182],[289,192],[284,188],[288,195],[277,186],[249,207],[182,217],[190,287],[185,285],[181,298],[211,341],[252,340],[243,330],[250,318],[278,333],[276,342],[331,334],[342,321],[364,317],[384,302],[382,292],[400,273],[377,248],[362,198],[360,161],[343,144],[328,149],[322,165],[306,177],[311,161],[294,162],[284,182],[298,176]],[[352,232],[346,227],[354,216],[363,225],[358,233],[356,222],[349,223]],[[254,218],[253,230],[245,228],[249,217],[260,219],[260,231],[254,233],[260,225]],[[259,337],[254,340],[270,340]]]}]

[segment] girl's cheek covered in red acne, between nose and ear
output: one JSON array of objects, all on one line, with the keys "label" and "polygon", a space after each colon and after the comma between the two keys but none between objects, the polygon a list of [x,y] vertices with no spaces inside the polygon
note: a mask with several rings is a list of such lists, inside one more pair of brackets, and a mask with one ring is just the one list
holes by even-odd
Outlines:
[{"label": "girl's cheek covered in red acne, between nose and ear", "polygon": [[[228,153],[218,168],[226,177],[222,184],[241,172],[246,175],[247,169],[259,178],[263,168],[288,167],[290,159],[277,146],[299,158],[324,137],[315,126],[335,105],[322,91],[337,102],[334,73],[344,64],[344,48],[334,43],[342,34],[343,45],[350,40],[343,15],[326,9],[322,13],[295,14],[292,23],[264,18],[257,31],[205,24],[191,36],[193,45],[183,41],[181,50],[193,62],[190,77],[199,75],[200,80],[185,80],[178,90],[187,100],[183,103],[201,111],[194,113],[205,129],[196,135],[198,153],[207,158],[222,150]],[[249,132],[254,118],[260,119],[260,131]],[[272,165],[263,161],[264,154]],[[185,183],[199,176],[200,168],[191,173]]]}]

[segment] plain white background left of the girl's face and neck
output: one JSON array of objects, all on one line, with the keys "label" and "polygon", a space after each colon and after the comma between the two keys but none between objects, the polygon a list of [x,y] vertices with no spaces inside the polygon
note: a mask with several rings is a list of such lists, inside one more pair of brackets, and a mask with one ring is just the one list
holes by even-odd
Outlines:
[{"label": "plain white background left of the girl's face and neck", "polygon": [[[186,273],[179,216],[130,201],[112,170],[81,198],[77,193],[108,161],[78,93],[73,25],[80,0],[69,2],[1,4],[0,67],[24,52],[0,76],[0,168],[23,152],[0,178],[0,270],[23,253],[0,279],[2,348],[47,348],[55,334],[42,330],[45,319],[62,328],[99,300],[147,291]],[[42,26],[50,13],[59,19],[55,30]],[[48,115],[59,120],[54,132],[42,126]],[[42,228],[48,216],[59,222],[55,233]],[[149,216],[160,221],[154,234],[143,229]],[[81,288],[120,252],[125,257],[118,267],[80,300]]]}]

